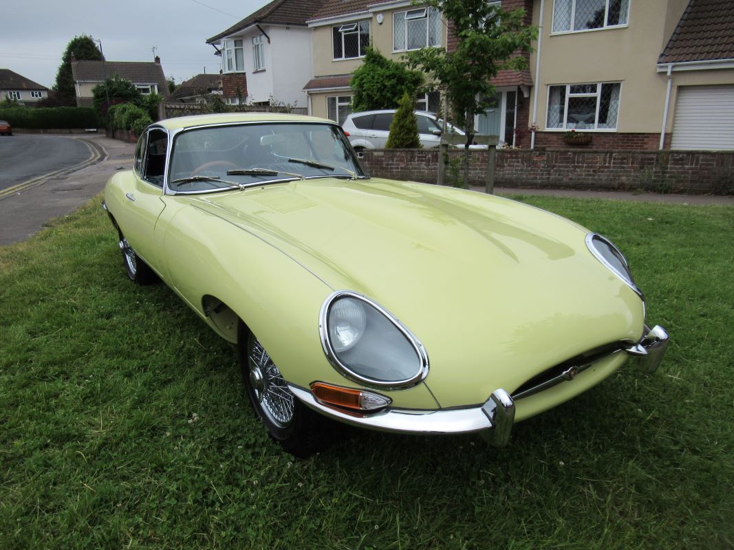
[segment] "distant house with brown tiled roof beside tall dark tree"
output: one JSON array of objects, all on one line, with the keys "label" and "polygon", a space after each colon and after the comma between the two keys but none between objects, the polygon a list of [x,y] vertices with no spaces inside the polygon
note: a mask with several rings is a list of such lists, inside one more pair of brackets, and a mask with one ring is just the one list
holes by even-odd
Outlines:
[{"label": "distant house with brown tiled roof beside tall dark tree", "polygon": [[89,107],[92,105],[92,90],[102,84],[106,76],[117,75],[131,81],[140,93],[148,95],[157,93],[164,99],[169,96],[166,76],[161,67],[161,58],[156,56],[153,62],[142,61],[77,61],[71,57],[71,74],[76,89],[76,105]]}]

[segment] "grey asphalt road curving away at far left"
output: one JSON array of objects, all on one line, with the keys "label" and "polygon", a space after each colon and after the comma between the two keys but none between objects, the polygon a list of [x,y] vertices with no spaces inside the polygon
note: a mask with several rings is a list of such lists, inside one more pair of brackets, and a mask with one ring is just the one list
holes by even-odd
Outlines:
[{"label": "grey asphalt road curving away at far left", "polygon": [[68,136],[0,136],[0,191],[87,161],[90,147]]}]

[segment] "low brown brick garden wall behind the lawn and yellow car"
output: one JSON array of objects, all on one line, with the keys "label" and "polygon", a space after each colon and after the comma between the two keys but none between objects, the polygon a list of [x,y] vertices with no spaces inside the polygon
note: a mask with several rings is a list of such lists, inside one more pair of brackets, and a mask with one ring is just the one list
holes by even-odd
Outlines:
[{"label": "low brown brick garden wall behind the lawn and yellow car", "polygon": [[[470,154],[470,184],[484,186],[487,152]],[[449,153],[449,179],[459,175],[462,155]],[[436,183],[437,150],[365,150],[361,161],[374,177]],[[727,195],[734,194],[734,152],[498,150],[495,185]]]}]

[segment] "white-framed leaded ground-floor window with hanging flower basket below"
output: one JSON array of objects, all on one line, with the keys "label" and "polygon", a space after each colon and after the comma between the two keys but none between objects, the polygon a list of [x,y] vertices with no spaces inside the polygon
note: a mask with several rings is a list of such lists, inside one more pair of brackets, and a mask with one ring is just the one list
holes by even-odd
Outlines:
[{"label": "white-framed leaded ground-floor window with hanging flower basket below", "polygon": [[548,130],[616,130],[619,82],[548,87]]}]

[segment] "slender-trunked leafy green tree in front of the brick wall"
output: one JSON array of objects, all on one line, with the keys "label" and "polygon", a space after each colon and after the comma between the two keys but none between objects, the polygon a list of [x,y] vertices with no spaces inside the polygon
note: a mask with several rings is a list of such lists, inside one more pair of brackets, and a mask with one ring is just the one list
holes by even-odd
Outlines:
[{"label": "slender-trunked leafy green tree in front of the brick wall", "polygon": [[495,89],[490,78],[501,69],[528,66],[523,53],[532,51],[537,28],[523,24],[525,10],[505,11],[485,0],[422,0],[454,24],[458,38],[454,51],[421,48],[407,54],[410,67],[420,67],[440,82],[454,116],[466,131],[465,185],[468,180],[469,145],[474,139],[474,114],[490,106]]}]

